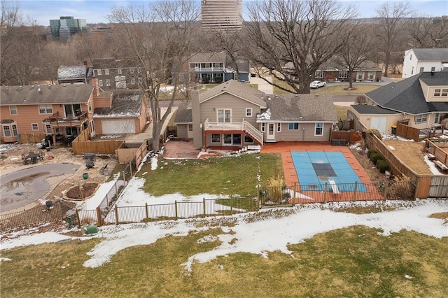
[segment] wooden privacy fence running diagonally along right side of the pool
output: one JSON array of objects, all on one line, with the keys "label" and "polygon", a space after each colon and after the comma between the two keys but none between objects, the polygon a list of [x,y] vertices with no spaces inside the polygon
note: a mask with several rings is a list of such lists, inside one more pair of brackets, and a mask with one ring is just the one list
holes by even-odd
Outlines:
[{"label": "wooden privacy fence running diagonally along right side of the pool", "polygon": [[365,143],[370,150],[379,152],[388,163],[391,173],[395,176],[406,176],[416,184],[414,198],[427,199],[429,197],[448,197],[447,175],[419,175],[404,164],[393,152],[372,134],[365,134]]}]

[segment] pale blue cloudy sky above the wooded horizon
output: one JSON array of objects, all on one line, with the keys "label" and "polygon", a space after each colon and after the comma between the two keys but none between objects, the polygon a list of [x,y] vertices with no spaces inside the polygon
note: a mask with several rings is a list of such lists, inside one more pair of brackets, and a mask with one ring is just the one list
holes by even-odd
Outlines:
[{"label": "pale blue cloudy sky above the wooded horizon", "polygon": [[[11,0],[15,2],[15,0]],[[29,17],[30,20],[35,20],[37,24],[48,26],[50,20],[59,19],[61,16],[72,16],[77,19],[85,19],[88,24],[109,22],[107,16],[111,14],[113,6],[129,6],[130,3],[141,4],[148,1],[140,0],[50,0],[50,1],[36,1],[36,0],[18,0],[20,4],[20,13],[24,17]],[[249,1],[257,0],[243,0],[243,5]],[[374,17],[377,9],[386,0],[337,0],[348,5],[354,3],[358,7],[361,17]],[[391,2],[398,2],[402,0],[391,0]],[[448,1],[447,0],[410,0],[412,10],[421,15],[440,16],[448,15]]]}]

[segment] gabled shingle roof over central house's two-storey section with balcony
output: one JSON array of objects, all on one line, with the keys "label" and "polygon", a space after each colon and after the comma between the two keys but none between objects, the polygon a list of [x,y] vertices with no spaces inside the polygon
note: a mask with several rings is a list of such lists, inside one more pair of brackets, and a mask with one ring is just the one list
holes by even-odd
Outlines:
[{"label": "gabled shingle roof over central house's two-storey section with balcony", "polygon": [[235,95],[236,97],[241,97],[242,99],[249,101],[253,104],[257,104],[258,106],[265,108],[265,101],[262,101],[263,92],[256,90],[255,88],[239,83],[236,80],[228,80],[225,83],[222,83],[210,90],[207,90],[204,93],[200,94],[199,102],[202,103],[216,97],[218,94],[222,94],[223,92],[227,92],[229,94]]}]

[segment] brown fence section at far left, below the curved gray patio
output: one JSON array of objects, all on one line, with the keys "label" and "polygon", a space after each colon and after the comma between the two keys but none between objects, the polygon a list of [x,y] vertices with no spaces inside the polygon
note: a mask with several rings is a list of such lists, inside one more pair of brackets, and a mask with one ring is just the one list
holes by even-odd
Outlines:
[{"label": "brown fence section at far left, below the curved gray patio", "polygon": [[51,208],[39,205],[34,208],[0,215],[0,232],[38,227],[44,223],[57,222],[64,218],[62,206],[55,201]]}]

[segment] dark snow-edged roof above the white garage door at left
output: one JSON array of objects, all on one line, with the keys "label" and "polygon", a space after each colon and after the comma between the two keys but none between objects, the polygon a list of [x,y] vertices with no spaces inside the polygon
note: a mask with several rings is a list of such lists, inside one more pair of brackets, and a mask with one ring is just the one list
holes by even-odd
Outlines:
[{"label": "dark snow-edged roof above the white garage door at left", "polygon": [[139,91],[114,92],[110,108],[95,108],[94,118],[139,117],[143,94]]}]

